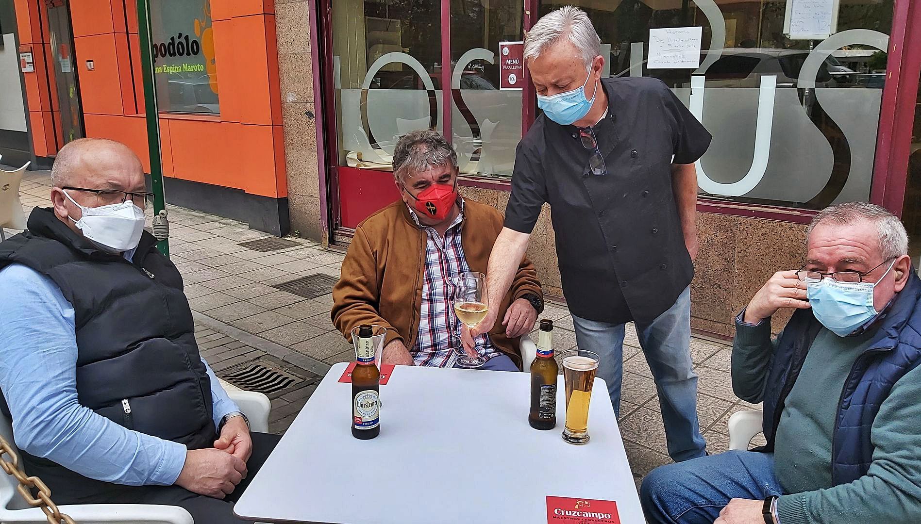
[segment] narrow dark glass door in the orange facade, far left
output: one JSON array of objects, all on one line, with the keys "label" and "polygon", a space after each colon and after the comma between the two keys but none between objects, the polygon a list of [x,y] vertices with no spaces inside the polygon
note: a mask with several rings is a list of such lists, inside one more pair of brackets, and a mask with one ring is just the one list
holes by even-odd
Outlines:
[{"label": "narrow dark glass door in the orange facade, far left", "polygon": [[66,1],[48,4],[48,25],[51,29],[54,84],[61,115],[64,144],[84,136],[80,88],[76,78],[74,36],[70,25],[70,10]]}]

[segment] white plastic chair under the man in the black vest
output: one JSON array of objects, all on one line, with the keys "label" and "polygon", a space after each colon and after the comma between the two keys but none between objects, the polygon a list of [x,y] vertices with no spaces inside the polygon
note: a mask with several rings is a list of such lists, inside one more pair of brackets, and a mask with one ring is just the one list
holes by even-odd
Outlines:
[{"label": "white plastic chair under the man in the black vest", "polygon": [[[262,393],[244,391],[221,380],[227,395],[239,405],[241,412],[250,419],[253,431],[266,432],[269,429],[269,398]],[[0,435],[10,444],[13,428],[6,416],[0,415]],[[17,449],[18,451],[18,449]],[[21,461],[20,461],[21,466]],[[0,470],[0,522],[3,524],[26,524],[44,522],[48,519],[38,507],[29,507],[17,494],[16,479]],[[52,500],[54,494],[52,493]],[[178,506],[155,506],[152,504],[86,504],[80,506],[59,506],[62,513],[74,518],[79,524],[195,524],[192,515]]]}]

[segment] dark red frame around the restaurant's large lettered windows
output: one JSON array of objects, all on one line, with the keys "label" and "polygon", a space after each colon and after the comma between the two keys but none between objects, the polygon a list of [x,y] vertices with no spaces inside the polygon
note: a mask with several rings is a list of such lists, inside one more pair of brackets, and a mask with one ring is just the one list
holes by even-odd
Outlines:
[{"label": "dark red frame around the restaurant's large lettered windows", "polygon": [[[524,0],[525,33],[538,18],[539,0]],[[324,236],[332,238],[332,233],[343,223],[343,206],[340,201],[339,181],[341,176],[356,176],[358,171],[338,166],[338,131],[335,120],[335,89],[332,82],[332,0],[309,0],[310,6],[310,40],[320,42],[320,52],[313,55],[314,104],[316,107],[317,159],[321,173],[321,205],[326,212],[321,212]],[[440,0],[441,6],[441,59],[442,59],[442,129],[451,130],[451,89],[450,89],[450,0]],[[319,17],[319,24],[318,18]],[[909,21],[911,20],[911,22]],[[880,106],[880,127],[877,135],[877,155],[874,160],[873,176],[870,186],[870,202],[883,205],[901,215],[905,183],[907,179],[910,137],[914,124],[914,105],[921,75],[921,3],[914,0],[894,0],[892,33],[889,45],[889,66],[885,87],[883,87]],[[447,66],[446,66],[447,64]],[[894,66],[892,64],[895,64]],[[530,75],[525,68],[525,81],[530,87]],[[527,133],[535,118],[535,92],[533,87],[525,88],[522,93],[521,133]],[[350,171],[356,172],[350,172]],[[342,173],[340,173],[342,171]],[[348,172],[347,172],[348,171]],[[508,180],[478,179],[463,176],[462,186],[482,187],[509,191]],[[380,189],[379,183],[372,184]],[[373,200],[375,192],[370,192],[367,199]],[[364,200],[365,197],[359,198]],[[348,215],[366,213],[370,203],[359,202],[353,205]],[[808,223],[814,211],[798,208],[733,204],[725,201],[701,198],[698,211],[723,215],[741,215],[786,222]]]}]

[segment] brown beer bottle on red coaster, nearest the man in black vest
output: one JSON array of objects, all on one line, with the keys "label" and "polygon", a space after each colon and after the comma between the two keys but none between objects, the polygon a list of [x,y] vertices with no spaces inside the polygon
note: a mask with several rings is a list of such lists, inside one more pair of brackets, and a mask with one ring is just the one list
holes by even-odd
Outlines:
[{"label": "brown beer bottle on red coaster, nearest the man in black vest", "polygon": [[356,366],[352,370],[352,437],[367,440],[380,433],[380,371],[374,363],[370,325],[358,328]]}]

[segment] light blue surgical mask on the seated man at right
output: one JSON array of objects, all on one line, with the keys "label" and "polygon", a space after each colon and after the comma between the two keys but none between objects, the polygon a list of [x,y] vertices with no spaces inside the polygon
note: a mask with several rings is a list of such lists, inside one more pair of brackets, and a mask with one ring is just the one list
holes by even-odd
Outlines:
[{"label": "light blue surgical mask on the seated man at right", "polygon": [[[893,260],[880,281],[892,271],[894,264]],[[873,288],[880,281],[875,284],[841,284],[826,276],[821,282],[810,282],[806,285],[806,296],[809,297],[812,314],[828,331],[840,337],[856,332],[880,314],[873,308]]]}]

